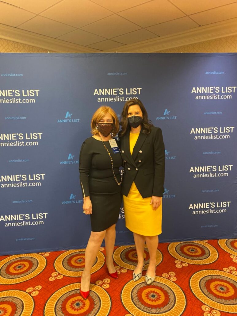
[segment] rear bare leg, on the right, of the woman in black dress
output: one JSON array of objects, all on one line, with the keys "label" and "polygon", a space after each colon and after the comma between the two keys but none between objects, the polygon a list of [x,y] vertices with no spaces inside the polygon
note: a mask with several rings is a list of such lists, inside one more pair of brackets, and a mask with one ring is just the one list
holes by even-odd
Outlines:
[{"label": "rear bare leg, on the right, of the woman in black dress", "polygon": [[106,229],[105,233],[105,249],[106,249],[106,265],[109,273],[116,271],[113,265],[113,250],[115,244],[115,224]]}]

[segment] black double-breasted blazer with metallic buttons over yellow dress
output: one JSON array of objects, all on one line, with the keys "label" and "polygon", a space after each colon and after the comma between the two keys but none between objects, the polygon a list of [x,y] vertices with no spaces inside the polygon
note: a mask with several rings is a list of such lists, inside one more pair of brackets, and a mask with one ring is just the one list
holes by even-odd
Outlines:
[{"label": "black double-breasted blazer with metallic buttons over yellow dress", "polygon": [[141,130],[131,155],[129,148],[130,129],[120,137],[120,150],[125,162],[122,194],[128,196],[135,182],[143,198],[152,195],[162,197],[165,178],[165,147],[159,127],[152,126],[146,135]]}]

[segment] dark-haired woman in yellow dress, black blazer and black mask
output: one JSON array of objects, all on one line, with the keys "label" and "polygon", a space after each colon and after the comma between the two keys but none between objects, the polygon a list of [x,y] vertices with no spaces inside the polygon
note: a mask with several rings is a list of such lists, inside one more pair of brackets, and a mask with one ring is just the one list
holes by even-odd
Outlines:
[{"label": "dark-haired woman in yellow dress, black blazer and black mask", "polygon": [[161,234],[165,173],[163,137],[161,129],[148,120],[147,111],[138,99],[125,103],[120,124],[120,150],[125,162],[122,183],[125,225],[133,232],[137,250],[133,279],[137,281],[142,277],[146,242],[150,260],[145,280],[151,284],[155,280],[158,235]]}]

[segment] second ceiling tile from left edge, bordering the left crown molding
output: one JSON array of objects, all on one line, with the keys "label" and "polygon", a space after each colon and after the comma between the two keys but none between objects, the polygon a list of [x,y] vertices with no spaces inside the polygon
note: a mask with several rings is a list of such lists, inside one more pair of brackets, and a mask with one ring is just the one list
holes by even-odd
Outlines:
[{"label": "second ceiling tile from left edge, bordering the left crown molding", "polygon": [[75,30],[75,27],[46,19],[39,15],[19,25],[18,28],[54,38]]}]

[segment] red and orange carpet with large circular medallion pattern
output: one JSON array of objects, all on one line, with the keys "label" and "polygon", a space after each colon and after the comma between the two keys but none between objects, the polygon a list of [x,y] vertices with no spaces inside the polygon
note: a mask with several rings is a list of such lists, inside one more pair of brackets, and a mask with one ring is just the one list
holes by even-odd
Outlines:
[{"label": "red and orange carpet with large circular medallion pattern", "polygon": [[[105,249],[94,262],[87,300],[79,294],[84,249],[0,257],[0,316],[237,314],[237,239],[164,243],[156,279],[134,282],[134,246],[115,247],[118,280]],[[147,267],[149,255],[145,249]]]}]

